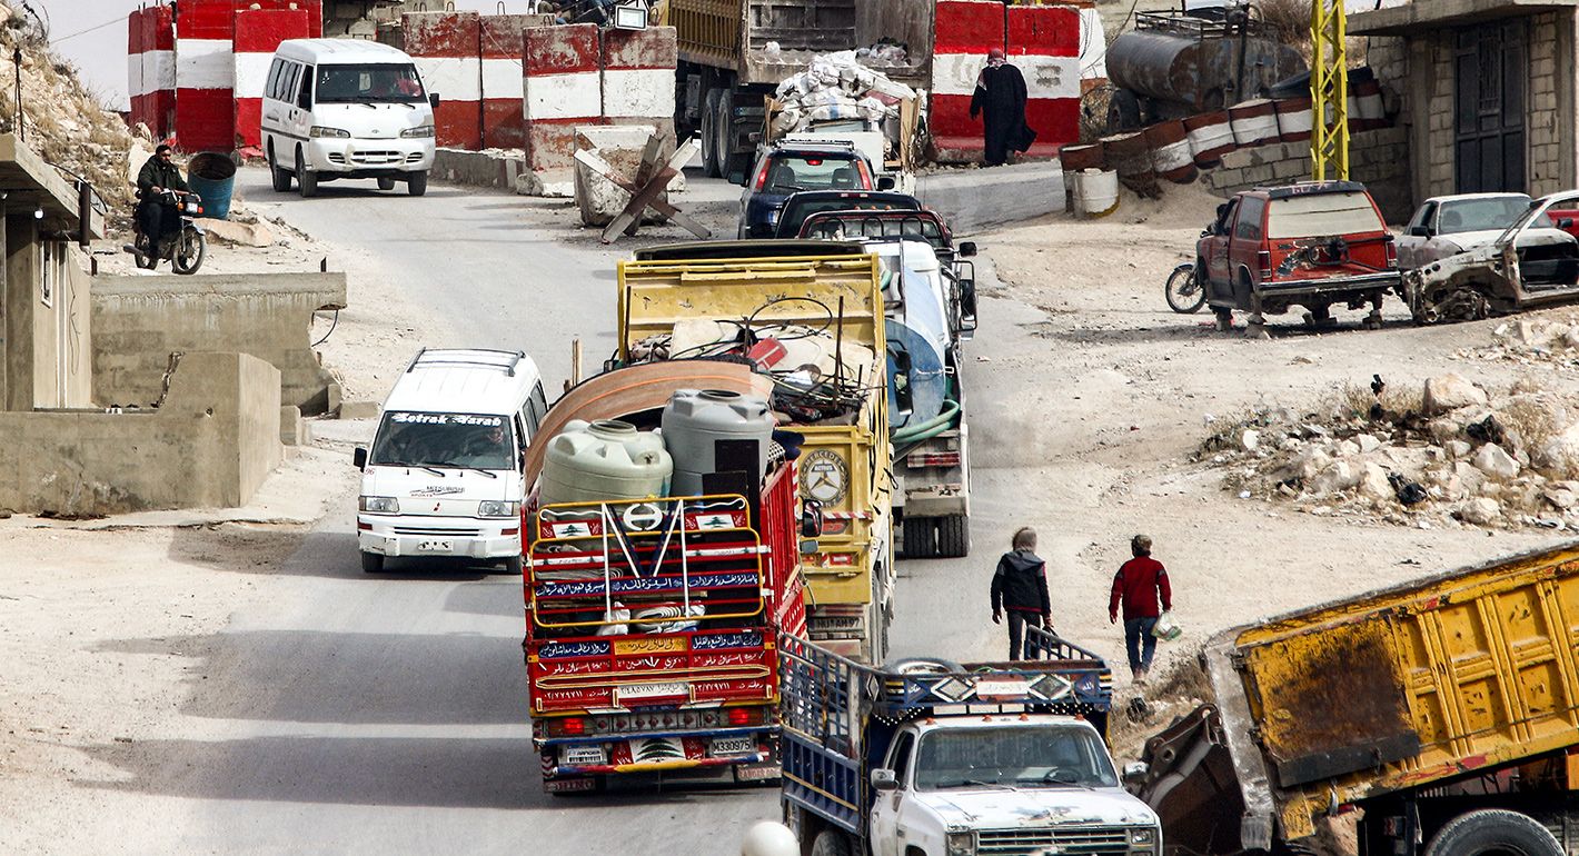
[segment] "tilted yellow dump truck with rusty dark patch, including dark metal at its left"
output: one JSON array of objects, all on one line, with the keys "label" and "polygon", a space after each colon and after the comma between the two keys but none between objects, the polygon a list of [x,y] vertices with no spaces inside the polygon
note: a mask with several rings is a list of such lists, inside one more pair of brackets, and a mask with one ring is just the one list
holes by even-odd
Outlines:
[{"label": "tilted yellow dump truck with rusty dark patch, including dark metal at its left", "polygon": [[1131,788],[1175,853],[1579,853],[1579,542],[1224,632]]}]

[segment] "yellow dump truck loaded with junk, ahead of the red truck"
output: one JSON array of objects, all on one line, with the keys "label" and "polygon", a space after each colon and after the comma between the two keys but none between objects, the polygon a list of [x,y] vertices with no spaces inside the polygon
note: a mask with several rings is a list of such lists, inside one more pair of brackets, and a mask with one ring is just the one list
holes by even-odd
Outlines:
[{"label": "yellow dump truck loaded with junk, ahead of the red truck", "polygon": [[868,663],[894,614],[883,343],[880,262],[859,243],[681,243],[619,265],[617,363],[745,362],[772,381],[780,428],[805,437],[801,496],[823,518],[807,633]]}]

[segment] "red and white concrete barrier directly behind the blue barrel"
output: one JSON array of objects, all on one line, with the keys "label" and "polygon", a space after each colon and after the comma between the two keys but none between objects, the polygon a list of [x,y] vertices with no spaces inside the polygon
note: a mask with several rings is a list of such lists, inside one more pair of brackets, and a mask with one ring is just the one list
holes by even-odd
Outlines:
[{"label": "red and white concrete barrier directly behind the blue barrel", "polygon": [[175,139],[186,152],[235,144],[234,0],[188,0],[175,17]]}]

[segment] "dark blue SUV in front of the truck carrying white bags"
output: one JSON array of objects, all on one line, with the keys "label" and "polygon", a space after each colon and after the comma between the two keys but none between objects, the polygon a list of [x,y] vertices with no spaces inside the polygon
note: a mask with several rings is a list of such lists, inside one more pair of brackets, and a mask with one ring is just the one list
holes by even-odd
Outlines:
[{"label": "dark blue SUV in front of the truck carrying white bags", "polygon": [[[785,142],[772,145],[756,160],[741,194],[737,237],[771,238],[778,212],[791,194],[804,190],[878,190],[872,161],[853,144]],[[892,186],[892,178],[884,178]],[[791,232],[793,234],[793,232]]]}]

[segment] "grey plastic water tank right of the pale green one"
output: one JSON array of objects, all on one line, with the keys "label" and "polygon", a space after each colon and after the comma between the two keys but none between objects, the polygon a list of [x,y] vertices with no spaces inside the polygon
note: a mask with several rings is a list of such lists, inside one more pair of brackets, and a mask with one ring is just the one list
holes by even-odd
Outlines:
[{"label": "grey plastic water tank right of the pale green one", "polygon": [[674,456],[673,496],[703,493],[701,477],[717,472],[715,441],[756,441],[756,474],[767,471],[774,417],[767,401],[728,390],[676,390],[663,407],[663,444]]}]

